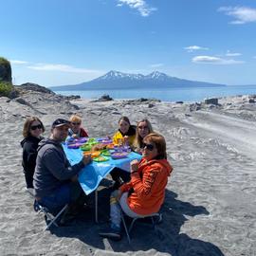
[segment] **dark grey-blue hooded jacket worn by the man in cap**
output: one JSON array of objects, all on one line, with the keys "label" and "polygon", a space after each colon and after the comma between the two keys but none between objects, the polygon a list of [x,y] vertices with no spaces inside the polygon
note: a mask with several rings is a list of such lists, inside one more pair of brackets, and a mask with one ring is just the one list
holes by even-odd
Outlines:
[{"label": "dark grey-blue hooded jacket worn by the man in cap", "polygon": [[50,138],[43,139],[39,143],[34,174],[36,196],[53,194],[83,167],[82,160],[78,164],[70,165],[61,143]]}]

